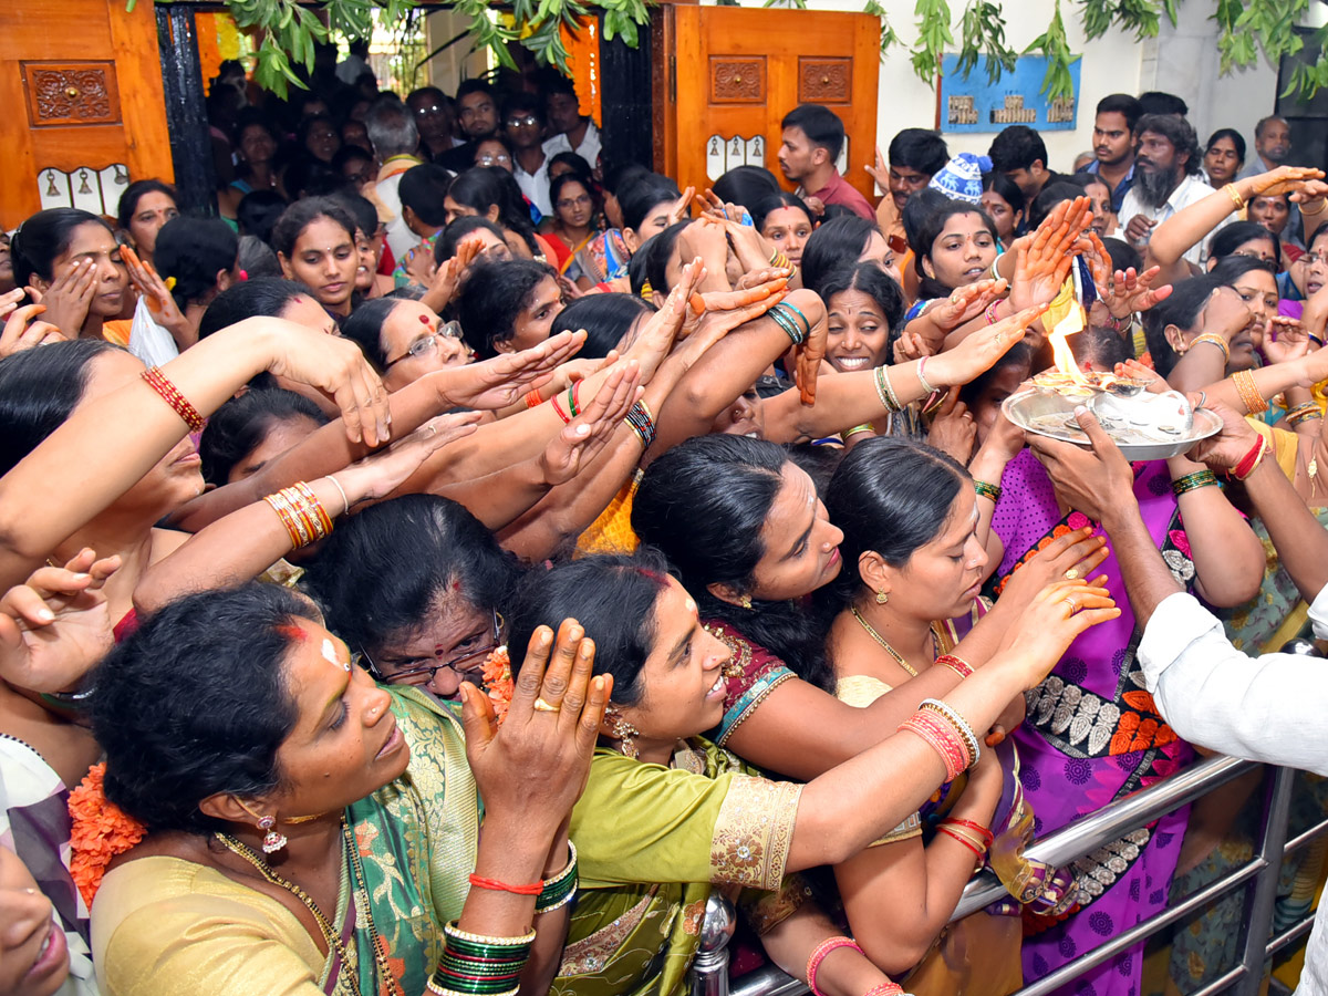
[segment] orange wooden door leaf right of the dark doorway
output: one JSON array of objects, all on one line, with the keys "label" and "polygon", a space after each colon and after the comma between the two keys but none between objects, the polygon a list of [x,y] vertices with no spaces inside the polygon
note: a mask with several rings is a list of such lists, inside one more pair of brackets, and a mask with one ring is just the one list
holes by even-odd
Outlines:
[{"label": "orange wooden door leaf right of the dark doorway", "polygon": [[680,5],[664,8],[661,20],[657,169],[697,190],[744,163],[784,182],[780,121],[799,104],[823,104],[843,120],[841,173],[874,197],[863,166],[876,142],[876,17]]}]

